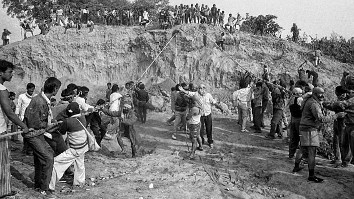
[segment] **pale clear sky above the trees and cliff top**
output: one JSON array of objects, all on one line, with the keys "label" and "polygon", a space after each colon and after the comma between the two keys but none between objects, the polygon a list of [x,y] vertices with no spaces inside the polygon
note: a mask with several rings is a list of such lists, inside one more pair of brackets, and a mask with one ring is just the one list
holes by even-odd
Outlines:
[{"label": "pale clear sky above the trees and cliff top", "polygon": [[[330,37],[332,32],[338,33],[345,39],[354,37],[354,0],[169,0],[170,4],[180,5],[198,3],[224,10],[226,15],[232,13],[246,16],[246,13],[257,16],[259,14],[273,14],[278,17],[278,24],[283,27],[282,38],[290,35],[292,23],[301,29],[300,35],[305,32],[312,37]],[[21,40],[21,28],[17,19],[7,16],[6,9],[0,3],[0,32],[8,29],[13,34],[10,42]],[[226,19],[225,19],[226,21]],[[38,31],[38,32],[37,32]],[[36,30],[36,34],[39,30]],[[23,36],[22,36],[23,37]]]}]

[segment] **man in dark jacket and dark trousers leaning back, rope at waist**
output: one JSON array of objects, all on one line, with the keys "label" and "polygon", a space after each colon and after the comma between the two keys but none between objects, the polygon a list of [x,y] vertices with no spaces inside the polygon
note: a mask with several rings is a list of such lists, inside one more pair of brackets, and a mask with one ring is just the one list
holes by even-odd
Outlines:
[{"label": "man in dark jacket and dark trousers leaning back, rope at waist", "polygon": [[[46,129],[51,123],[56,121],[52,118],[50,109],[50,98],[55,96],[61,87],[60,80],[49,77],[44,82],[43,92],[34,97],[24,112],[24,123],[34,131],[23,134],[28,145],[33,149],[33,159],[35,163],[35,188],[38,188],[47,198],[56,198],[49,183],[53,170],[53,151],[44,139]],[[49,134],[49,133],[48,133]]]}]

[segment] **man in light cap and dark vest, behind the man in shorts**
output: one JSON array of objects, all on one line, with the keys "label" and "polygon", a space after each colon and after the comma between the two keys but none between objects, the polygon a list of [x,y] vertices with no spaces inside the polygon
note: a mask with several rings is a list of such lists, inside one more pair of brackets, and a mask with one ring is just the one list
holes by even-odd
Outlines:
[{"label": "man in light cap and dark vest, behind the man in shorts", "polygon": [[294,88],[292,90],[292,96],[289,100],[289,110],[291,115],[290,120],[290,143],[289,143],[289,158],[292,159],[296,153],[296,149],[300,142],[299,126],[301,121],[301,102],[303,101],[302,90],[300,88]]}]

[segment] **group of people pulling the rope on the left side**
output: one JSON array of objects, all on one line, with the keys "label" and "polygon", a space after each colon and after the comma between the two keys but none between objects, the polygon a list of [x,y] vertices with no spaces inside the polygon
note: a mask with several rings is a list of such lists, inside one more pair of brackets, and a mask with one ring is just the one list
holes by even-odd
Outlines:
[{"label": "group of people pulling the rope on the left side", "polygon": [[[87,128],[91,129],[100,146],[104,137],[116,137],[122,149],[117,155],[127,153],[122,140],[127,137],[132,157],[135,157],[141,138],[134,126],[138,120],[146,122],[146,103],[149,101],[142,82],[135,85],[131,81],[122,88],[108,83],[105,99],[99,99],[92,106],[86,103],[90,89],[74,83],[68,84],[61,93],[61,100],[56,102],[53,97],[62,83],[49,77],[38,95],[34,93],[35,84],[28,83],[26,92],[18,96],[15,104],[16,94],[8,92],[4,86],[5,81],[11,81],[14,68],[11,62],[0,60],[0,107],[3,112],[0,114],[0,134],[6,135],[8,126],[12,132],[21,133],[23,153],[34,157],[35,188],[46,198],[56,198],[53,191],[58,181],[66,182],[67,178],[73,177],[74,186],[82,187],[85,183],[84,154],[90,143]],[[102,114],[110,117],[109,124],[103,122]],[[11,140],[20,144],[17,134],[12,135]],[[6,137],[0,138],[0,149],[0,197],[4,197],[15,194],[11,191]],[[73,171],[71,164],[74,164]]]}]

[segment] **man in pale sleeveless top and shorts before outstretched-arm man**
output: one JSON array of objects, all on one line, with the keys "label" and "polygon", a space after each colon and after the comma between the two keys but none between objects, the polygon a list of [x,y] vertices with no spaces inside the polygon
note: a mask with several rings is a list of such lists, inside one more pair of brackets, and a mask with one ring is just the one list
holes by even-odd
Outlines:
[{"label": "man in pale sleeveless top and shorts before outstretched-arm man", "polygon": [[[183,160],[193,160],[195,151],[198,149],[199,151],[203,151],[203,147],[201,144],[201,137],[199,135],[200,131],[200,106],[198,104],[199,98],[198,96],[192,97],[192,106],[189,110],[187,116],[187,124],[189,128],[189,137],[192,139],[192,151],[188,157],[183,158]],[[197,141],[199,147],[197,147]]]}]

